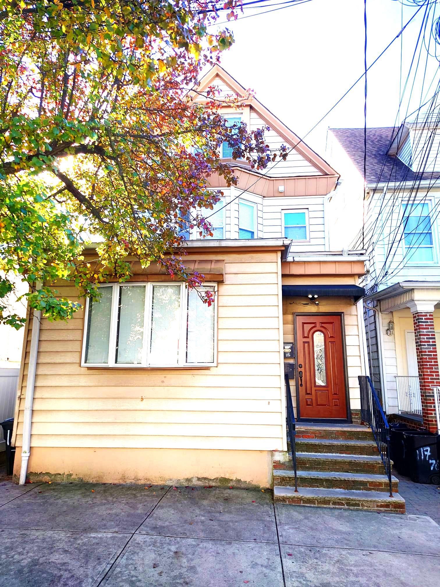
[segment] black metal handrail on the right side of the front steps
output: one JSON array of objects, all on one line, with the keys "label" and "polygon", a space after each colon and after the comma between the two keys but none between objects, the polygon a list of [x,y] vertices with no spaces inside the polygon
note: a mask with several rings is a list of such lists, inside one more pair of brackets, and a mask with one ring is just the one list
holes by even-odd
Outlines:
[{"label": "black metal handrail on the right side of the front steps", "polygon": [[392,497],[391,459],[390,459],[390,426],[381,407],[377,393],[370,377],[359,375],[361,391],[361,420],[370,426],[376,441],[385,472],[390,483],[390,497]]}]

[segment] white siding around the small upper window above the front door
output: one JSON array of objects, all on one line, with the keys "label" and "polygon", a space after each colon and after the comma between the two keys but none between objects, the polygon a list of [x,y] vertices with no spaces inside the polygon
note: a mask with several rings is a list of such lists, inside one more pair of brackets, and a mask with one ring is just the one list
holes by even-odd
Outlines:
[{"label": "white siding around the small upper window above the front door", "polygon": [[326,250],[324,228],[324,197],[264,198],[263,225],[265,238],[283,237],[283,211],[308,210],[309,236],[307,242],[292,242],[292,251],[317,252]]}]

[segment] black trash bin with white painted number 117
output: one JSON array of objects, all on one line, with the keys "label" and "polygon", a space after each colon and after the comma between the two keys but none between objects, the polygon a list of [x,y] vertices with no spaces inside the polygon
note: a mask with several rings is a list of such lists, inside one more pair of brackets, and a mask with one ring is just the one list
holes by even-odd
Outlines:
[{"label": "black trash bin with white painted number 117", "polygon": [[404,461],[414,483],[440,483],[440,434],[425,430],[403,433]]}]

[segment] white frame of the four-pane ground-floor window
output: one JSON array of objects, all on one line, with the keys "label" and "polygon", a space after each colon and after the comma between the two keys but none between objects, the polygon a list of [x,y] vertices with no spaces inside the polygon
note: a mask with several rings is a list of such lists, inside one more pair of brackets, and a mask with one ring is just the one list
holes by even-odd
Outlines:
[{"label": "white frame of the four-pane ground-floor window", "polygon": [[[145,288],[145,309],[144,309],[144,332],[143,332],[143,347],[142,347],[142,362],[136,363],[116,363],[116,336],[117,336],[117,314],[119,304],[120,288],[124,285],[144,287]],[[148,348],[151,341],[151,303],[153,302],[153,286],[154,285],[180,285],[180,335],[179,335],[179,349],[177,363],[148,363]],[[113,288],[111,298],[111,316],[110,316],[110,338],[109,338],[109,362],[108,363],[86,363],[86,345],[87,345],[87,322],[90,311],[90,299],[86,300],[86,308],[84,312],[84,334],[83,334],[83,348],[81,353],[82,367],[103,367],[111,369],[145,369],[160,368],[160,367],[216,367],[217,366],[217,340],[218,340],[218,296],[216,283],[205,283],[206,287],[214,289],[214,360],[212,363],[187,363],[186,362],[186,342],[188,336],[187,330],[187,311],[188,311],[188,288],[183,282],[164,282],[164,281],[148,281],[148,282],[125,282],[122,284],[103,284],[99,288],[111,287]],[[182,340],[184,344],[182,345]]]}]

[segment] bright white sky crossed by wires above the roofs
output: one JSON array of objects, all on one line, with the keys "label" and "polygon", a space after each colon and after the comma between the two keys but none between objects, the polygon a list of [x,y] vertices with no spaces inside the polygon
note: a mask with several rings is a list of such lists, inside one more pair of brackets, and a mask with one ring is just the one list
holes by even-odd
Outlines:
[{"label": "bright white sky crossed by wires above the roofs", "polygon": [[[282,1],[268,0],[268,3]],[[404,23],[417,8],[403,6]],[[368,65],[400,31],[401,11],[399,0],[367,0]],[[423,12],[424,8],[403,33],[403,80],[408,75]],[[246,10],[243,16],[249,14],[252,12]],[[241,20],[239,15],[237,21],[227,26],[234,33],[235,44],[223,53],[222,66],[243,86],[255,90],[260,102],[301,137],[339,100],[364,69],[364,0],[311,0],[252,18]],[[400,52],[401,43],[397,39],[368,72],[368,126],[394,124],[399,102]],[[408,112],[419,104],[426,55],[426,50],[422,49]],[[428,63],[425,91],[434,75],[436,80],[440,79],[436,59],[430,57]],[[408,90],[411,86],[412,79]],[[435,83],[428,97],[434,90]],[[409,91],[405,96],[408,94]],[[405,102],[406,97],[399,122],[405,115]],[[323,154],[327,127],[363,127],[363,117],[364,82],[361,80],[307,137],[306,143]]]}]

